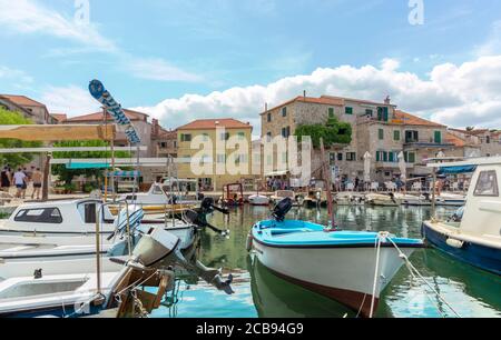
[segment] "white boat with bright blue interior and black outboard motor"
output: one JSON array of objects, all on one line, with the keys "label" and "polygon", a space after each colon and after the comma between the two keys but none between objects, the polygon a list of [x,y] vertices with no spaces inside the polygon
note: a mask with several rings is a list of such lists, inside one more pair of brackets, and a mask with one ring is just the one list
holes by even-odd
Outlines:
[{"label": "white boat with bright blue interior and black outboard motor", "polygon": [[[381,292],[422,240],[389,233],[341,231],[307,221],[285,220],[286,199],[274,219],[257,222],[247,249],[278,277],[336,300],[363,317],[372,317]],[[381,244],[381,247],[377,247]],[[377,256],[380,253],[380,256]]]}]

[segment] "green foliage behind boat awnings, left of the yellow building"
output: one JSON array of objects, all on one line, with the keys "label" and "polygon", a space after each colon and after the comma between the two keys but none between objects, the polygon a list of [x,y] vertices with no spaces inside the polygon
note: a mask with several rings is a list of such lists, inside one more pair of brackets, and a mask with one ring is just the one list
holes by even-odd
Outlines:
[{"label": "green foliage behind boat awnings, left of the yellow building", "polygon": [[[92,148],[92,147],[109,147],[109,144],[101,140],[96,141],[63,141],[55,144],[56,148]],[[111,163],[111,151],[88,151],[88,152],[55,152],[52,154],[55,159],[89,159],[89,158],[101,158],[109,159]],[[115,152],[115,158],[130,158],[129,152],[117,151]],[[66,186],[70,186],[73,177],[85,176],[90,178],[96,176],[96,178],[102,178],[105,170],[101,169],[67,169],[65,164],[56,164],[52,167],[52,174],[59,176],[59,178],[65,181]]]}]

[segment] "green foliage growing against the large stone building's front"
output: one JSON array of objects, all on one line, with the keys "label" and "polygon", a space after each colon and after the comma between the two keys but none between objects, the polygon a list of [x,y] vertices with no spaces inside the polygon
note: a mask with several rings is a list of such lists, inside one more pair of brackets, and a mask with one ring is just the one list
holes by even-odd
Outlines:
[{"label": "green foliage growing against the large stone building's front", "polygon": [[320,148],[321,138],[324,139],[325,147],[331,147],[333,144],[350,144],[352,142],[352,126],[347,122],[340,122],[336,118],[331,118],[325,126],[299,126],[295,133],[299,140],[302,140],[303,137],[311,137],[314,148]]}]

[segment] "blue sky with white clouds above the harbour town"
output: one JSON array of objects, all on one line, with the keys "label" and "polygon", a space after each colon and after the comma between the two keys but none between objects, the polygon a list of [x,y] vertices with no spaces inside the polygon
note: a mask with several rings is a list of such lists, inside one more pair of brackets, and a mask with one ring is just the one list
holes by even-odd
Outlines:
[{"label": "blue sky with white clouds above the harbour town", "polygon": [[265,103],[303,91],[391,96],[451,127],[501,128],[498,0],[0,0],[0,93],[51,112],[97,111],[87,90],[97,78],[166,128],[233,117],[259,134]]}]

